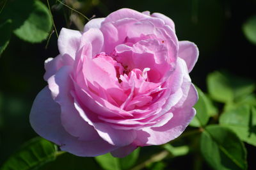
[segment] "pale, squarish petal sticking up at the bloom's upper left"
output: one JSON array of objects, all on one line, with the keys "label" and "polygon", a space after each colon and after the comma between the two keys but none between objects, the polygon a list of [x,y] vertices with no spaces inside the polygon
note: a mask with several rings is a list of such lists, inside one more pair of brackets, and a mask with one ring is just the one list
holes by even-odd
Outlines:
[{"label": "pale, squarish petal sticking up at the bloom's upper left", "polygon": [[69,54],[73,59],[75,59],[81,36],[82,34],[79,31],[66,29],[63,27],[58,38],[58,48],[60,54]]}]

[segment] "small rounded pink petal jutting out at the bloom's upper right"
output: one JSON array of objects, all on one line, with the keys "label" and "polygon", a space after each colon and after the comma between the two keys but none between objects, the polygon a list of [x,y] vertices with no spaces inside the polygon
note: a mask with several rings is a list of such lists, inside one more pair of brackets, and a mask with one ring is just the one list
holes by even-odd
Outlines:
[{"label": "small rounded pink petal jutting out at the bloom's upper right", "polygon": [[198,59],[199,51],[195,43],[188,41],[179,42],[179,58],[186,61],[188,72],[191,72]]}]

